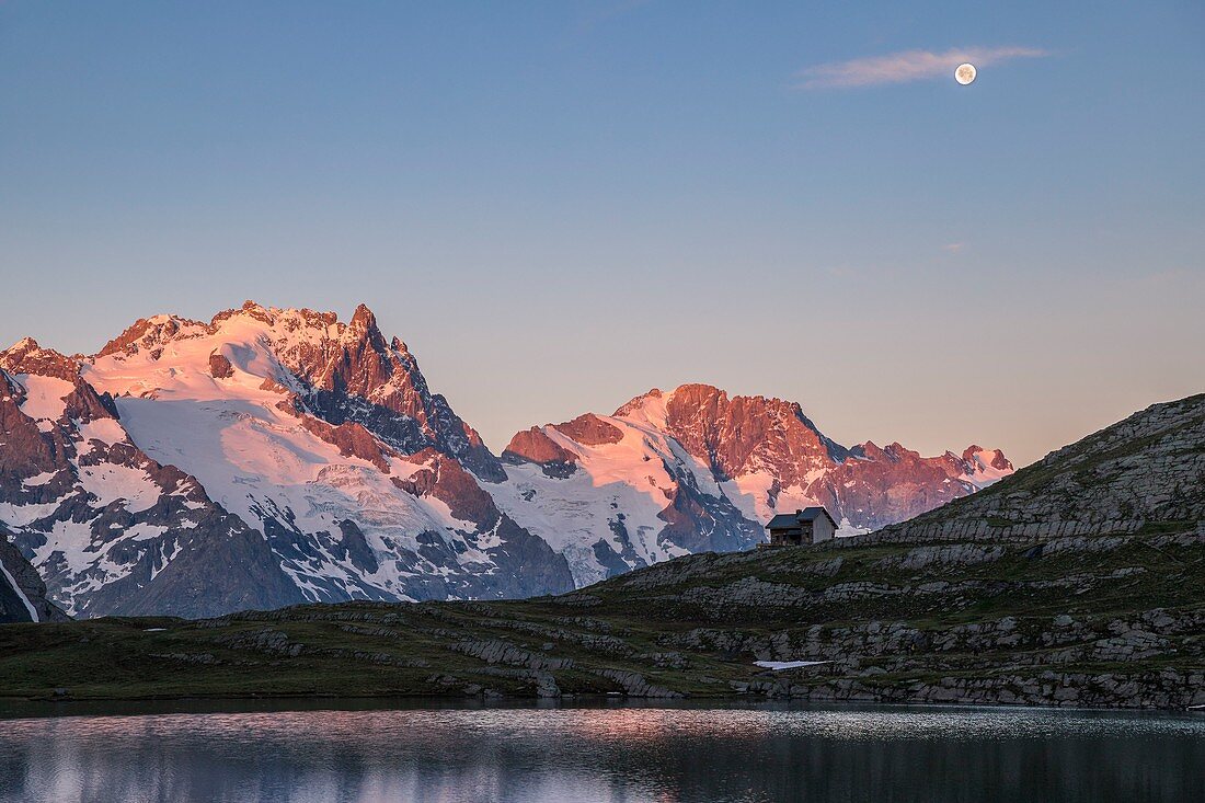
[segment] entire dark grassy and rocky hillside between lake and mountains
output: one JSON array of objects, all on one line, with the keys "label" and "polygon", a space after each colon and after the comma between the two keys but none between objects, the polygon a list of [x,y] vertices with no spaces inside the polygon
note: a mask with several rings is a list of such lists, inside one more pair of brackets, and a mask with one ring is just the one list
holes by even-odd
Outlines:
[{"label": "entire dark grassy and rocky hillside between lake and mountains", "polygon": [[8,625],[0,694],[1201,705],[1203,488],[1193,397],[906,527],[688,556],[560,597]]}]

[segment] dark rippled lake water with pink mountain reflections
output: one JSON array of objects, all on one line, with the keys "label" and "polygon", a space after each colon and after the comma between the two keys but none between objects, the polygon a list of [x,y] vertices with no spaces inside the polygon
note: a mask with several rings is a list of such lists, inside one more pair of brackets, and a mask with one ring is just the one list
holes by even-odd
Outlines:
[{"label": "dark rippled lake water with pink mountain reflections", "polygon": [[0,720],[0,801],[1201,801],[1205,716],[441,708]]}]

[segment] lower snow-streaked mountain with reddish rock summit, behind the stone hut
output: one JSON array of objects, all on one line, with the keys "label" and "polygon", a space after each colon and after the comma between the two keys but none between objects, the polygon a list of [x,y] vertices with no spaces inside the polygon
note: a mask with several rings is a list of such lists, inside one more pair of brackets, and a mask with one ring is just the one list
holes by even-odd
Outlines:
[{"label": "lower snow-streaked mountain with reddish rock summit, behind the stone hut", "polygon": [[1012,471],[998,450],[977,446],[929,458],[899,444],[846,449],[795,403],[707,385],[533,427],[502,459],[510,482],[494,490],[499,505],[562,551],[578,585],[680,555],[748,549],[776,511],[821,504],[852,533]]}]

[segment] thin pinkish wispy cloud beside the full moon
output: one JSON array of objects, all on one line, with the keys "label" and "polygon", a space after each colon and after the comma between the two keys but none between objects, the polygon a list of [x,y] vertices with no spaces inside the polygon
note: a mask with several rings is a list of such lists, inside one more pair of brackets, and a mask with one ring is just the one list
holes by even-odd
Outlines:
[{"label": "thin pinkish wispy cloud beside the full moon", "polygon": [[1047,52],[1035,47],[971,47],[956,48],[944,53],[900,51],[887,55],[829,61],[810,66],[799,72],[798,86],[803,89],[830,89],[907,83],[952,75],[954,68],[963,61],[983,68],[1012,59],[1031,59],[1042,55],[1047,55]]}]

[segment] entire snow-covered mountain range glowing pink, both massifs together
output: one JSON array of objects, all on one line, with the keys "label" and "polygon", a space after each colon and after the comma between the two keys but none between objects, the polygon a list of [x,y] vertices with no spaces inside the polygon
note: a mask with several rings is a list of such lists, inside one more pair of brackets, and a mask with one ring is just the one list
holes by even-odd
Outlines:
[{"label": "entire snow-covered mountain range glowing pink, both massifs together", "polygon": [[83,617],[559,593],[748,549],[776,511],[823,504],[865,532],[1012,473],[978,446],[845,447],[795,403],[706,385],[495,456],[363,305],[159,315],[90,356],[24,339],[0,352],[0,439],[14,619],[36,582]]}]

